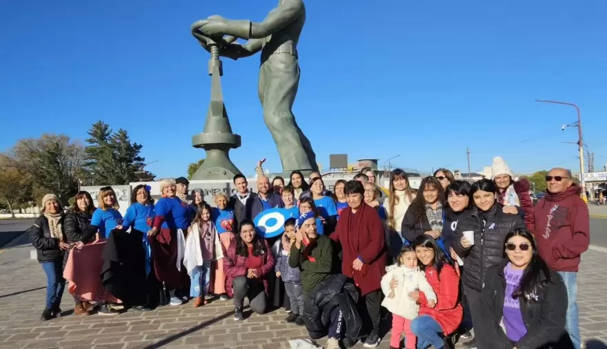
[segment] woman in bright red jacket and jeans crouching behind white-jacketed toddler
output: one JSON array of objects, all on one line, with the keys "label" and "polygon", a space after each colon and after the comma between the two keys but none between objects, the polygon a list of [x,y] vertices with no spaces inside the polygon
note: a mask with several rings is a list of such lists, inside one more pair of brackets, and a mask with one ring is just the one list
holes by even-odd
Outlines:
[{"label": "woman in bright red jacket and jeans crouching behind white-jacketed toddler", "polygon": [[[426,295],[421,291],[409,293],[419,303],[419,316],[411,321],[411,331],[417,336],[417,348],[433,346],[437,349],[452,349],[451,335],[459,327],[464,310],[459,303],[459,276],[446,260],[435,239],[421,235],[413,243],[421,270],[437,295],[436,306],[430,308]],[[392,288],[397,282],[392,281]]]}]

